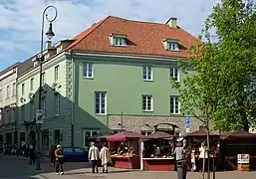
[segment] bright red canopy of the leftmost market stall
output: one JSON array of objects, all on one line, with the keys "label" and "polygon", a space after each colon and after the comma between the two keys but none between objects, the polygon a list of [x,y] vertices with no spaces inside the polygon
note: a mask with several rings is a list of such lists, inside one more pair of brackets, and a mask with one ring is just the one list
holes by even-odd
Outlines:
[{"label": "bright red canopy of the leftmost market stall", "polygon": [[108,141],[126,141],[128,138],[139,139],[141,135],[132,131],[123,131],[114,135],[108,136]]}]

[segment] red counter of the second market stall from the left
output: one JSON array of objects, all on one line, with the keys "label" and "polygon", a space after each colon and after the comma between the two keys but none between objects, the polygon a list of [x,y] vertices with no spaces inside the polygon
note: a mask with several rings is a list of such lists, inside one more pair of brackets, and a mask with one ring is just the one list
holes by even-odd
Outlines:
[{"label": "red counter of the second market stall from the left", "polygon": [[174,171],[174,158],[142,158],[144,170]]}]

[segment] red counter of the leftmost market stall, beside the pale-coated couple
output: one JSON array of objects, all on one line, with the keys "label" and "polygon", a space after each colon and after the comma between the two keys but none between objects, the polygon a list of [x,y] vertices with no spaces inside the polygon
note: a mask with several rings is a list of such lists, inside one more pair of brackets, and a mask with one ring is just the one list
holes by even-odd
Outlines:
[{"label": "red counter of the leftmost market stall, beside the pale-coated couple", "polygon": [[112,162],[116,168],[139,169],[140,161],[138,156],[115,156],[112,155]]}]

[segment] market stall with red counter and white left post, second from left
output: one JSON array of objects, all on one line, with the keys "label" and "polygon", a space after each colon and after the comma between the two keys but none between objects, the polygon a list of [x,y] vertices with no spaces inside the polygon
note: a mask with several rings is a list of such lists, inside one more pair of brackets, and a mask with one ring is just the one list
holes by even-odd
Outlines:
[{"label": "market stall with red counter and white left post, second from left", "polygon": [[174,170],[173,135],[156,131],[141,137],[140,165],[143,170]]}]

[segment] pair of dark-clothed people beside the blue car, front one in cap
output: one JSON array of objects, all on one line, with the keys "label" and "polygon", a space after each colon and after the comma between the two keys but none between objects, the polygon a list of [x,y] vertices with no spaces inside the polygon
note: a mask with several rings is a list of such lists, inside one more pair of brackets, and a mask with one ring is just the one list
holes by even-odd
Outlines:
[{"label": "pair of dark-clothed people beside the blue car, front one in cap", "polygon": [[52,145],[49,151],[50,165],[56,166],[56,174],[63,175],[63,164],[65,162],[61,145]]}]

